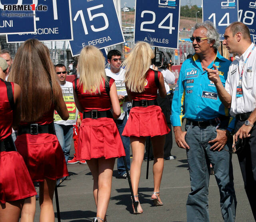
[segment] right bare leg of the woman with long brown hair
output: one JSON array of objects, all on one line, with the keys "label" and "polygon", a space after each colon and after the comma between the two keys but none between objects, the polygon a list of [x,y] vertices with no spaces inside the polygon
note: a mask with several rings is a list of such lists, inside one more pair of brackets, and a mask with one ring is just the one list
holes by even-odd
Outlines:
[{"label": "right bare leg of the woman with long brown hair", "polygon": [[40,222],[54,222],[55,220],[52,204],[55,186],[56,180],[46,178],[44,182],[39,182]]}]

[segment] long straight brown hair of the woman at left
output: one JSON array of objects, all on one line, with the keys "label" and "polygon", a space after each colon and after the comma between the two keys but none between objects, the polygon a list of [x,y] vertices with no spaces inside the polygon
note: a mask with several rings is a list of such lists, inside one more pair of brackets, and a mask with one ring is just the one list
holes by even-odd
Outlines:
[{"label": "long straight brown hair of the woman at left", "polygon": [[21,87],[21,121],[40,120],[62,97],[50,52],[38,40],[27,40],[19,47],[9,78]]}]

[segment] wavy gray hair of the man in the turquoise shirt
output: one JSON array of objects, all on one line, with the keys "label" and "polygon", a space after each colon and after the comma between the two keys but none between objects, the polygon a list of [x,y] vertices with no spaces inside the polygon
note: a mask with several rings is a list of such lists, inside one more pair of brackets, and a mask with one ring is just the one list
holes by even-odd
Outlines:
[{"label": "wavy gray hair of the man in the turquoise shirt", "polygon": [[214,24],[211,21],[205,21],[202,23],[196,23],[195,29],[205,28],[207,30],[206,37],[208,38],[208,43],[214,42],[213,48],[217,50],[220,44],[220,35],[218,34]]}]

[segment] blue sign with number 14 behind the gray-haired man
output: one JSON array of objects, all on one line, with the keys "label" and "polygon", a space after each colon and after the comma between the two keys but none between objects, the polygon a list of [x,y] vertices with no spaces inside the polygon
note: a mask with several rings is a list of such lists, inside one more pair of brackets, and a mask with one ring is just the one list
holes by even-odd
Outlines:
[{"label": "blue sign with number 14 behind the gray-haired man", "polygon": [[203,21],[210,20],[224,40],[224,32],[232,22],[238,21],[238,0],[203,0]]}]

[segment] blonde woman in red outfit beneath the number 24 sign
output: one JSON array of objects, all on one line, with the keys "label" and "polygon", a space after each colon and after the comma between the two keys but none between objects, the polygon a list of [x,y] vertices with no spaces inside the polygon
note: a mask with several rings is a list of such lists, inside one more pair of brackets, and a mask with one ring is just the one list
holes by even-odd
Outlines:
[{"label": "blonde woman in red outfit beneath the number 24 sign", "polygon": [[125,84],[128,97],[132,100],[130,116],[124,128],[123,136],[130,137],[132,146],[132,164],[130,176],[137,210],[134,214],[142,214],[138,200],[138,184],[140,169],[144,157],[146,137],[150,136],[154,154],[154,192],[151,196],[155,206],[162,206],[160,184],[164,169],[165,135],[170,131],[160,106],[156,103],[157,90],[161,97],[166,96],[164,77],[159,71],[150,69],[154,53],[146,42],[138,42],[124,61]]}]

